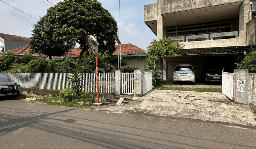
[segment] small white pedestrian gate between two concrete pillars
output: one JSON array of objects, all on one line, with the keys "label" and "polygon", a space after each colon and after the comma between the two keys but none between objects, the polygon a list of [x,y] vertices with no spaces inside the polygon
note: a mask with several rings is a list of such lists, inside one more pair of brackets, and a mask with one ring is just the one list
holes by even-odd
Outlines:
[{"label": "small white pedestrian gate between two concrete pillars", "polygon": [[122,93],[134,94],[134,73],[122,73]]}]

